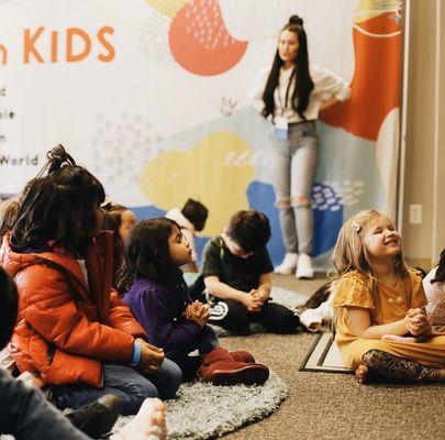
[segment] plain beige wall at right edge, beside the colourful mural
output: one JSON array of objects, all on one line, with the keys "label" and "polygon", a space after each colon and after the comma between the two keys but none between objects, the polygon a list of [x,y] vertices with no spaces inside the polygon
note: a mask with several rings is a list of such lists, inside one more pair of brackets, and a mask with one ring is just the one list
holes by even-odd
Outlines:
[{"label": "plain beige wall at right edge, beside the colourful mural", "polygon": [[[411,0],[410,18],[402,233],[408,260],[427,268],[445,248],[445,3]],[[421,224],[410,222],[411,204],[422,206]]]}]

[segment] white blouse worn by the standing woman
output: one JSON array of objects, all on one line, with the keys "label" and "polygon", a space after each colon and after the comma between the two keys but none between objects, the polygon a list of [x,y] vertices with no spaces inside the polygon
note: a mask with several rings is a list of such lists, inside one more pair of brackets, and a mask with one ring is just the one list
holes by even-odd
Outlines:
[{"label": "white blouse worn by the standing woman", "polygon": [[[291,97],[296,87],[297,77],[297,75],[293,75],[293,77],[291,78],[292,70],[293,68],[285,69],[281,67],[280,76],[278,79],[278,87],[275,89],[274,94],[274,117],[282,114],[287,118],[289,123],[303,121],[303,119],[300,118],[299,114],[292,110],[291,106]],[[266,87],[269,72],[270,68],[265,68],[260,72],[256,81],[256,87],[251,94],[253,106],[259,112],[262,112],[264,109],[263,92]],[[320,107],[323,101],[326,101],[333,97],[337,98],[340,101],[345,101],[351,96],[351,88],[341,77],[316,64],[310,64],[309,72],[311,74],[314,88],[309,97],[309,103],[304,116],[307,120],[314,120],[319,118]],[[288,89],[290,79],[291,84],[288,94],[288,102],[287,106],[285,106],[286,91]]]}]

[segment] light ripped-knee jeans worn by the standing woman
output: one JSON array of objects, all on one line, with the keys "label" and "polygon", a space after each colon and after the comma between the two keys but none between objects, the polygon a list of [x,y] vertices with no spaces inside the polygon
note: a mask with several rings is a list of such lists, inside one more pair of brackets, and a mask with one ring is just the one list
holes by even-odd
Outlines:
[{"label": "light ripped-knee jeans worn by the standing woman", "polygon": [[275,187],[286,252],[311,255],[311,194],[320,154],[315,122],[290,124],[288,138],[279,141],[270,135],[269,179]]}]

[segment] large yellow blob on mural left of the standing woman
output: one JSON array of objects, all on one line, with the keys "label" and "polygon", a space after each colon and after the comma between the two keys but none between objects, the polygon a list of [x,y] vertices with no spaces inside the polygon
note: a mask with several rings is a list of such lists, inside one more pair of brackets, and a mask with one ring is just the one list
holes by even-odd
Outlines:
[{"label": "large yellow blob on mural left of the standing woman", "polygon": [[209,134],[188,151],[170,150],[145,165],[142,191],[160,209],[180,208],[189,198],[209,208],[204,235],[221,232],[238,209],[248,209],[247,187],[255,175],[252,150],[229,131]]}]

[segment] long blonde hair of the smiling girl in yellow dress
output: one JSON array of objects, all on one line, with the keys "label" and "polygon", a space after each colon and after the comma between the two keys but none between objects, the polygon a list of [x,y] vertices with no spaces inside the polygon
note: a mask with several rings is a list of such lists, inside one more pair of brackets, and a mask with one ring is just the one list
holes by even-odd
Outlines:
[{"label": "long blonde hair of the smiling girl in yellow dress", "polygon": [[[386,216],[374,209],[366,210],[357,212],[343,224],[333,254],[334,270],[330,271],[330,276],[334,278],[331,292],[335,292],[340,278],[356,271],[363,275],[372,297],[377,299],[377,278],[364,239],[371,221],[378,218]],[[409,277],[401,250],[394,257],[394,271],[403,278]]]}]

